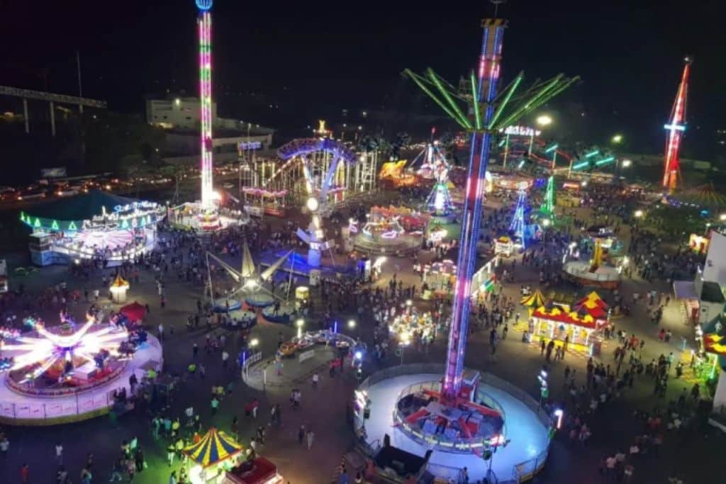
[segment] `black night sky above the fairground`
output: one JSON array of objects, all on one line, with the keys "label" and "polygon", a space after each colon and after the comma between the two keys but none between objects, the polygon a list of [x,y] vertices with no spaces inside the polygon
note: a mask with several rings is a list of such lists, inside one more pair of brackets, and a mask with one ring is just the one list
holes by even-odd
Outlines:
[{"label": "black night sky above the fairground", "polygon": [[[2,5],[3,84],[44,89],[45,69],[47,89],[76,94],[80,49],[83,94],[107,99],[113,110],[142,112],[144,94],[169,87],[197,90],[192,0]],[[711,141],[703,134],[726,127],[724,10],[717,1],[698,0],[510,0],[499,11],[510,20],[505,79],[518,70],[530,80],[581,75],[583,82],[550,108],[582,106],[588,141],[619,131],[631,147],[657,151],[682,58],[692,54],[690,149],[707,156]],[[452,80],[468,73],[478,54],[480,19],[492,16],[493,7],[485,0],[216,0],[212,11],[215,90],[264,92],[293,104],[304,123],[317,119],[317,104],[400,107],[415,92],[401,80],[404,67],[430,65]],[[266,118],[274,123],[274,113]],[[577,122],[564,118],[563,125]]]}]

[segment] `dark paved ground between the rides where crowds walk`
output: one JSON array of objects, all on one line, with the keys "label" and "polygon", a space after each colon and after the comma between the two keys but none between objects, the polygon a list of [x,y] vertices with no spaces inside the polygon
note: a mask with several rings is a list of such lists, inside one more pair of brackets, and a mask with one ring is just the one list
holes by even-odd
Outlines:
[{"label": "dark paved ground between the rides where crowds walk", "polygon": [[[581,213],[585,216],[585,213]],[[425,257],[425,255],[422,255]],[[418,276],[410,272],[412,261],[410,259],[389,258],[384,267],[386,275],[396,271],[404,284],[419,284]],[[36,290],[54,280],[66,279],[67,273],[63,268],[45,268],[41,274],[29,276],[25,280],[28,290]],[[519,284],[522,282],[536,283],[537,277],[529,268],[522,268],[518,264],[515,271],[515,282],[508,284],[507,293],[516,296]],[[72,287],[83,287],[81,283],[69,279]],[[379,284],[386,284],[384,277]],[[95,274],[94,279],[88,283],[89,287],[99,287],[101,274]],[[668,290],[665,282],[656,281],[653,284],[658,290]],[[643,293],[645,284],[639,279],[624,282],[621,293],[626,298],[632,292]],[[183,372],[192,358],[192,344],[197,342],[201,348],[204,346],[206,329],[187,332],[184,327],[187,315],[195,311],[197,298],[202,293],[201,287],[195,287],[186,282],[177,282],[170,278],[167,286],[168,304],[165,309],[159,307],[155,296],[155,287],[152,274],[142,274],[141,284],[134,284],[129,291],[130,300],[139,300],[149,303],[152,311],[146,323],[150,329],[155,329],[159,322],[166,327],[166,341],[164,343],[166,370],[168,372]],[[80,315],[86,305],[78,305],[73,312]],[[57,311],[44,311],[48,321],[54,321]],[[348,315],[341,314],[340,319],[346,321]],[[345,319],[344,319],[345,318]],[[686,327],[680,318],[680,312],[675,304],[666,308],[661,327],[672,329],[674,340],[671,345],[661,343],[656,338],[656,327],[650,324],[645,316],[645,308],[637,305],[629,317],[621,317],[618,325],[635,333],[646,340],[646,361],[655,358],[660,353],[677,351],[680,336],[693,340],[692,329]],[[171,330],[174,329],[174,334]],[[219,331],[219,330],[214,330]],[[261,321],[253,329],[253,337],[260,340],[261,350],[265,355],[271,355],[277,347],[278,335],[282,332],[285,339],[294,334],[294,329],[279,324],[269,324]],[[355,329],[356,335],[370,338],[370,321],[359,321]],[[230,337],[228,340],[229,353],[232,358],[237,355],[240,340]],[[488,338],[484,333],[474,332],[470,337],[469,351],[466,365],[485,369],[507,380],[515,382],[525,390],[537,395],[538,383],[535,375],[542,365],[539,350],[531,345],[521,343],[521,337],[514,329],[510,331],[507,340],[504,340],[497,350],[496,361],[488,358]],[[404,355],[407,363],[415,361],[443,361],[445,339],[439,337],[428,351],[419,353],[409,348]],[[486,349],[486,350],[485,350]],[[611,351],[603,354],[602,361],[612,362]],[[290,483],[327,483],[335,474],[335,468],[340,463],[343,454],[351,447],[352,435],[346,424],[345,404],[356,385],[351,372],[343,377],[333,379],[327,377],[327,372],[320,373],[321,382],[317,390],[309,385],[300,385],[293,382],[289,385],[266,387],[265,392],[246,387],[242,384],[237,372],[223,371],[219,353],[211,355],[200,351],[200,361],[206,366],[206,379],[184,382],[175,395],[169,413],[173,416],[181,414],[182,409],[192,405],[203,416],[205,427],[214,425],[222,429],[229,429],[232,416],[237,415],[241,422],[241,437],[245,445],[253,436],[254,429],[263,424],[268,430],[266,445],[261,454],[268,456],[276,462],[286,480]],[[399,364],[396,356],[389,356],[386,361],[374,363],[366,361],[366,373],[375,371],[382,366]],[[585,360],[568,354],[566,360],[553,364],[552,388],[555,397],[560,393],[563,382],[563,369],[568,364],[577,370],[579,376],[585,373]],[[209,407],[209,393],[211,385],[234,382],[232,395],[224,398],[221,410],[215,417],[211,417]],[[580,380],[579,383],[582,381]],[[288,398],[292,385],[301,387],[302,408],[290,409]],[[687,382],[671,382],[669,397],[674,398],[680,393],[680,388],[688,386]],[[253,398],[261,401],[258,421],[245,418],[243,407]],[[664,400],[656,400],[652,396],[650,380],[636,382],[635,389],[629,391],[619,400],[605,406],[602,411],[592,417],[592,440],[588,448],[582,448],[579,443],[569,442],[565,435],[558,435],[552,446],[550,462],[541,475],[536,478],[538,483],[600,483],[605,482],[604,477],[597,475],[597,462],[605,454],[612,454],[616,448],[626,448],[639,429],[633,415],[635,409],[652,409],[653,406],[663,408]],[[270,405],[280,403],[282,406],[282,425],[267,426]],[[113,460],[118,455],[121,440],[129,440],[134,436],[139,441],[147,456],[149,468],[137,476],[137,483],[166,483],[169,468],[164,459],[166,456],[166,443],[163,440],[154,442],[151,438],[147,415],[127,414],[118,422],[118,427],[110,427],[105,418],[49,428],[6,428],[9,432],[10,448],[7,456],[0,460],[1,483],[15,484],[20,482],[19,469],[21,464],[30,465],[31,483],[50,483],[56,469],[54,463],[54,443],[61,441],[65,446],[64,464],[70,470],[73,482],[78,481],[81,467],[86,462],[86,455],[94,454],[94,482],[103,482],[110,475]],[[311,450],[298,444],[297,430],[301,425],[311,428],[315,432],[315,440]],[[720,462],[719,449],[725,448],[726,440],[711,430],[685,430],[678,433],[666,434],[666,443],[661,456],[640,456],[635,464],[636,471],[632,482],[637,483],[665,483],[666,477],[674,472],[680,472],[686,478],[686,483],[717,483],[720,482],[718,469]],[[175,463],[175,468],[178,464]]]}]

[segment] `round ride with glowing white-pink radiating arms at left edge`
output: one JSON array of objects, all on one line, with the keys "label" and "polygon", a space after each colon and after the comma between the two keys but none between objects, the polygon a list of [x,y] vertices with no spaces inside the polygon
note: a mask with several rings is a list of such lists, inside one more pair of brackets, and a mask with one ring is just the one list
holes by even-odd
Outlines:
[{"label": "round ride with glowing white-pink radiating arms at left edge", "polygon": [[100,312],[89,313],[78,327],[62,312],[57,327],[28,319],[30,332],[4,335],[0,419],[54,424],[95,417],[115,404],[111,391],[126,388],[131,374],[160,369],[155,337],[129,331],[123,318],[102,319]]}]

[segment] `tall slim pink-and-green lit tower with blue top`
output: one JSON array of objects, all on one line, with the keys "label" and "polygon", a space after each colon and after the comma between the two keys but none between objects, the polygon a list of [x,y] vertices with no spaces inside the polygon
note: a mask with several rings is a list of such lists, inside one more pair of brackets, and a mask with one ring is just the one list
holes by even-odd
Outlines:
[{"label": "tall slim pink-and-green lit tower with blue top", "polygon": [[199,102],[200,102],[200,144],[202,175],[202,208],[214,207],[212,184],[214,162],[212,159],[212,0],[195,0],[199,9]]}]

